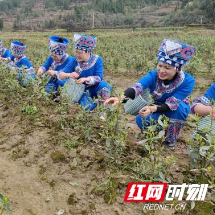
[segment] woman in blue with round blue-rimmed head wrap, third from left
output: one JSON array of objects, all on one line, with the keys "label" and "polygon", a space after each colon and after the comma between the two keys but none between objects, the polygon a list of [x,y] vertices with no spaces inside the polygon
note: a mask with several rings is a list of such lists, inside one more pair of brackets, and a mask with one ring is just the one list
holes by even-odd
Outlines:
[{"label": "woman in blue with round blue-rimmed head wrap, third from left", "polygon": [[[38,69],[37,75],[48,74],[51,76],[45,88],[46,93],[56,94],[58,87],[63,86],[67,80],[58,80],[57,72],[69,72],[69,64],[73,63],[73,58],[66,54],[69,45],[67,38],[59,36],[51,36],[49,38],[50,56],[46,62]],[[50,70],[49,70],[50,69]]]}]

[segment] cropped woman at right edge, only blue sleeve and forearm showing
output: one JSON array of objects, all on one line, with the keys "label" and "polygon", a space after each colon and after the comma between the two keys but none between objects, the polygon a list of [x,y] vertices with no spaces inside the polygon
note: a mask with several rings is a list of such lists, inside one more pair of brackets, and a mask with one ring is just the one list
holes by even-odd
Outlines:
[{"label": "cropped woman at right edge, only blue sleeve and forearm showing", "polygon": [[199,116],[211,115],[212,119],[215,120],[215,83],[206,91],[206,93],[193,100],[191,112],[198,114]]}]

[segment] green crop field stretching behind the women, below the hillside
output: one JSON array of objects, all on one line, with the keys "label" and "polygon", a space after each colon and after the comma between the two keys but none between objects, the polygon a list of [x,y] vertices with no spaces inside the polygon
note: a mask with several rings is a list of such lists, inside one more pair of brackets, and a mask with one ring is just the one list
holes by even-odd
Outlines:
[{"label": "green crop field stretching behind the women, below the hillside", "polygon": [[[205,30],[206,31],[206,30]],[[10,47],[12,40],[21,40],[27,44],[26,55],[31,60],[34,67],[39,68],[49,55],[48,38],[51,34],[60,34],[72,41],[73,34],[65,32],[52,33],[17,33],[11,37],[10,33],[4,33],[1,36],[3,45]],[[138,77],[140,74],[147,73],[154,69],[156,65],[156,54],[163,38],[181,40],[192,44],[197,48],[194,58],[185,66],[185,70],[196,76],[199,73],[209,73],[214,76],[213,59],[215,55],[214,32],[207,30],[202,36],[201,32],[181,28],[143,30],[114,30],[114,31],[89,31],[88,34],[98,36],[98,44],[95,50],[104,59],[106,71],[114,75],[123,74]],[[72,42],[68,53],[74,56]],[[135,75],[136,74],[136,75]]]}]

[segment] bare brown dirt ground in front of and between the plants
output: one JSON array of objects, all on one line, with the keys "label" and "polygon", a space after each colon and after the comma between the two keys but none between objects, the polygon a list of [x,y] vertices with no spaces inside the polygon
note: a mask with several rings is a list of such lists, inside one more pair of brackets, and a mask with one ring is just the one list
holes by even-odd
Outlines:
[{"label": "bare brown dirt ground in front of and between the plants", "polygon": [[[113,82],[123,89],[133,83],[130,79],[120,80],[122,77]],[[12,214],[54,215],[60,210],[63,215],[144,214],[143,204],[123,202],[126,179],[121,179],[113,204],[105,203],[98,192],[91,192],[110,175],[110,171],[100,169],[95,162],[93,145],[69,150],[54,144],[51,128],[40,125],[28,129],[19,115],[12,114],[13,107],[0,104],[0,193],[9,198]],[[129,123],[132,129],[137,129],[134,117]],[[179,138],[174,152],[179,162],[173,167],[175,170],[189,162],[185,138],[190,132],[184,129]],[[61,153],[60,159],[53,159],[54,152]],[[174,177],[183,182],[180,173]],[[167,215],[172,213],[165,211]]]}]

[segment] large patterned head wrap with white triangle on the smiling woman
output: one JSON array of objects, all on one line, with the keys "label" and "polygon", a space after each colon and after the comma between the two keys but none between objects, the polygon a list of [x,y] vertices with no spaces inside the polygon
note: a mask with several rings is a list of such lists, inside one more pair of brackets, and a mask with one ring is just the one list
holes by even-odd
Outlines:
[{"label": "large patterned head wrap with white triangle on the smiling woman", "polygon": [[192,59],[195,51],[196,48],[189,44],[177,40],[164,39],[159,48],[157,60],[181,68],[187,61]]}]

